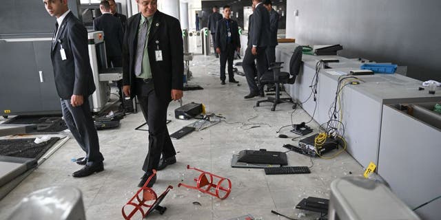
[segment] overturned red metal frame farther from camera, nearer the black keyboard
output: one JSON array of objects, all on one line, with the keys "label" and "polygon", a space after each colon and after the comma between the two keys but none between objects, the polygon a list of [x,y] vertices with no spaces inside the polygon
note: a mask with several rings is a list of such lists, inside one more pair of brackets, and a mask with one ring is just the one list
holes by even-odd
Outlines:
[{"label": "overturned red metal frame farther from camera, nearer the black keyboard", "polygon": [[[208,173],[205,172],[204,170],[199,170],[198,168],[193,168],[190,167],[189,165],[187,165],[187,169],[191,169],[191,170],[197,170],[199,172],[201,172],[201,175],[199,175],[198,178],[194,178],[194,181],[196,181],[196,186],[189,186],[187,184],[178,184],[178,187],[184,186],[187,188],[193,188],[195,190],[199,190],[201,192],[207,193],[209,195],[212,195],[214,197],[218,197],[219,199],[225,199],[228,197],[229,192],[232,192],[232,181],[229,181],[229,179],[225,178],[225,177],[220,177],[218,175],[214,175],[212,173]],[[209,177],[207,177],[207,175]],[[217,181],[217,184],[213,183],[213,180],[215,178],[218,178],[219,180]],[[226,180],[226,182],[225,182]],[[223,182],[227,183],[228,186],[227,188],[225,188],[224,186],[222,186]],[[213,193],[212,190],[214,189]],[[225,195],[220,195],[220,194],[225,193]]]}]

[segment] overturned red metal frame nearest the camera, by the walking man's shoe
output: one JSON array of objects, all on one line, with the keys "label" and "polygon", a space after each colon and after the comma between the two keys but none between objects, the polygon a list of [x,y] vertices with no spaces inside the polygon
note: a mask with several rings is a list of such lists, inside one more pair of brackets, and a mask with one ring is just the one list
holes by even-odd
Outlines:
[{"label": "overturned red metal frame nearest the camera, by the walking man's shoe", "polygon": [[[147,184],[154,177],[154,175],[156,175],[156,170],[153,170],[153,174],[150,175],[147,181],[145,181],[144,186],[136,192],[134,197],[132,197],[132,199],[130,199],[125,206],[123,206],[121,212],[123,212],[124,219],[132,219],[135,214],[141,214],[140,219],[143,219],[154,210],[158,210],[160,214],[164,214],[165,210],[167,210],[167,208],[159,206],[159,203],[163,201],[164,197],[167,195],[170,189],[173,188],[173,186],[168,186],[163,194],[157,197],[156,192],[154,192],[152,188],[147,187]],[[130,207],[133,207],[133,209],[130,210]]]}]

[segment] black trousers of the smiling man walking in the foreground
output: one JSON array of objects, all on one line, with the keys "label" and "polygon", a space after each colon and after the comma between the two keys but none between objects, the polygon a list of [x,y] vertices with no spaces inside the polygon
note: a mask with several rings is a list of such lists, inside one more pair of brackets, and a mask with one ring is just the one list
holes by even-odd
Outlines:
[{"label": "black trousers of the smiling man walking in the foreground", "polygon": [[149,152],[143,164],[143,170],[147,173],[158,168],[161,154],[164,158],[176,155],[167,129],[167,107],[170,102],[156,96],[153,81],[145,83],[136,80],[136,96],[149,127]]}]

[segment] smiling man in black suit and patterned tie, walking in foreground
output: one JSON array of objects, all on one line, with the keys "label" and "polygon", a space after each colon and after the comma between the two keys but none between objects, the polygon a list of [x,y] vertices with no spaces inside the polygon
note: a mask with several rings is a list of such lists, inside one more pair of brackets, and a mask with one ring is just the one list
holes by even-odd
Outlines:
[{"label": "smiling man in black suit and patterned tie, walking in foreground", "polygon": [[[183,96],[183,39],[178,19],[157,10],[156,0],[136,0],[140,13],[127,20],[123,42],[123,91],[138,97],[149,126],[149,151],[139,187],[152,175],[176,163],[167,130],[167,107]],[[161,158],[162,154],[162,158]],[[147,185],[152,187],[155,177]]]}]

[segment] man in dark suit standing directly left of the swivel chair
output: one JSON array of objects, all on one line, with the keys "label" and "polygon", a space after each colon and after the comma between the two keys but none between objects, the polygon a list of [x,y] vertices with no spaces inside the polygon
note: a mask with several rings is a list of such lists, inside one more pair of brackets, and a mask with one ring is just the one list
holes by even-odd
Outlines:
[{"label": "man in dark suit standing directly left of the swivel chair", "polygon": [[[267,66],[267,58],[265,56],[265,50],[269,45],[269,12],[261,2],[261,0],[253,0],[255,6],[251,30],[249,30],[248,47],[245,50],[245,56],[243,58],[243,70],[249,87],[249,94],[244,98],[253,98],[255,96],[263,96],[263,88],[260,85],[256,85],[254,78],[257,76],[260,80],[260,76],[265,73]],[[254,60],[257,60],[257,74],[254,68]]]}]

